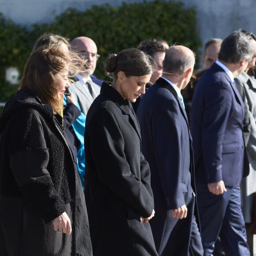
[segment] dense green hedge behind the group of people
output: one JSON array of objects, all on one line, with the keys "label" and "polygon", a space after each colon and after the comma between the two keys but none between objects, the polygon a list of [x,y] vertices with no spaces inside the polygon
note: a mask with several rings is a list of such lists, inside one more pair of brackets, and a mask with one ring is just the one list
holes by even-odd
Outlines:
[{"label": "dense green hedge behind the group of people", "polygon": [[[147,38],[162,38],[169,45],[182,44],[194,52],[201,45],[196,32],[195,8],[184,8],[182,2],[156,0],[120,6],[103,4],[83,12],[68,8],[56,17],[55,22],[34,24],[32,30],[0,16],[0,87],[7,86],[4,83],[5,68],[15,66],[22,73],[34,41],[45,32],[71,40],[78,36],[92,38],[101,55],[95,75],[102,79],[105,79],[102,63],[108,53],[137,47]],[[5,100],[10,97],[6,96]]]}]

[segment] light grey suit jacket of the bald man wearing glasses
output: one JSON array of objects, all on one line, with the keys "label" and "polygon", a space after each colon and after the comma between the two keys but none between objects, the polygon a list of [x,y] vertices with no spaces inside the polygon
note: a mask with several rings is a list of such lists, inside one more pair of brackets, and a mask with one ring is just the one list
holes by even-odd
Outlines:
[{"label": "light grey suit jacket of the bald man wearing glasses", "polygon": [[94,99],[100,94],[101,90],[101,88],[96,83],[93,83],[91,81],[88,82],[90,82],[92,87],[92,95],[80,81],[76,81],[73,85],[73,91],[77,96],[81,112],[83,112],[85,115],[87,115],[90,105],[92,104]]}]

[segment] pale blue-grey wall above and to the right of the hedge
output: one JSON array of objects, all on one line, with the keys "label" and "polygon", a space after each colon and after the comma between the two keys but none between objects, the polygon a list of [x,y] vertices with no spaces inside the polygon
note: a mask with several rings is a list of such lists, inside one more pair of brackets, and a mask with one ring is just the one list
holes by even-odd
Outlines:
[{"label": "pale blue-grey wall above and to the right of the hedge", "polygon": [[[142,0],[125,0],[127,3]],[[15,23],[52,22],[68,7],[84,11],[91,5],[119,5],[122,0],[0,0],[0,12]],[[225,38],[233,30],[256,33],[256,0],[182,0],[186,7],[195,6],[197,30],[203,44],[209,38]]]}]

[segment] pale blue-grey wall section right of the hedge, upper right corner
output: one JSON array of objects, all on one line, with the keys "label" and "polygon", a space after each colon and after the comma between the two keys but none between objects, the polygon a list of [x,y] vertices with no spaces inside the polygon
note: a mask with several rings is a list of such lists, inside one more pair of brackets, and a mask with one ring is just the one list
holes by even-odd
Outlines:
[{"label": "pale blue-grey wall section right of the hedge, upper right corner", "polygon": [[203,44],[209,38],[225,38],[234,30],[256,33],[255,0],[182,0],[196,7],[197,30]]}]

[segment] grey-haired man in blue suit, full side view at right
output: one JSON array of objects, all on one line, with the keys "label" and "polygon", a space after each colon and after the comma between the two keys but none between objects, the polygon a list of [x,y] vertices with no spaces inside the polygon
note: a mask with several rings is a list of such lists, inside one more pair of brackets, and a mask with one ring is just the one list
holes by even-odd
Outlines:
[{"label": "grey-haired man in blue suit, full side view at right", "polygon": [[250,255],[239,186],[248,175],[242,132],[245,107],[233,80],[253,53],[248,36],[234,31],[222,42],[218,60],[193,95],[191,124],[204,256],[211,256],[218,235],[226,256]]}]

